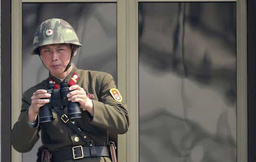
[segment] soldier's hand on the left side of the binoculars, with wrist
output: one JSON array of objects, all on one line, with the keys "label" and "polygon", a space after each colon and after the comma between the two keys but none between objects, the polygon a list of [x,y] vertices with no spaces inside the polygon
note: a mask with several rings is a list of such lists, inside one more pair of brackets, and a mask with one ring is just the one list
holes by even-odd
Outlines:
[{"label": "soldier's hand on the left side of the binoculars, with wrist", "polygon": [[46,90],[37,90],[33,93],[33,96],[31,97],[31,105],[28,109],[28,122],[33,123],[36,120],[39,108],[50,102],[49,99],[43,98],[49,97],[50,94],[48,94]]}]

